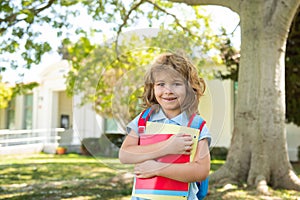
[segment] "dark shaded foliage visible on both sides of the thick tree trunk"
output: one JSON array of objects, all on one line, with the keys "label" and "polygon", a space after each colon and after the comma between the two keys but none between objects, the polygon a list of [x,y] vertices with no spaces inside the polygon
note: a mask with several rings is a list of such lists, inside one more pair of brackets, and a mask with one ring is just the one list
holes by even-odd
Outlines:
[{"label": "dark shaded foliage visible on both sides of the thick tree trunk", "polygon": [[[300,8],[294,17],[287,40],[285,58],[286,120],[300,125]],[[229,38],[221,44],[221,58],[226,70],[216,72],[220,79],[238,81],[240,52],[234,49]]]}]

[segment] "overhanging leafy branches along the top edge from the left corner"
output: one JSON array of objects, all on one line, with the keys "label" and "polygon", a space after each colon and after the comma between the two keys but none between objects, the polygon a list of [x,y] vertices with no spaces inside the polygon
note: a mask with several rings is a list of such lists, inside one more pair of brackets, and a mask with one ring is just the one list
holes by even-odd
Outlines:
[{"label": "overhanging leafy branches along the top edge from the left corner", "polygon": [[[200,28],[200,23],[187,20],[183,23],[174,14],[173,3],[167,1],[90,1],[90,0],[16,0],[1,1],[0,3],[0,54],[3,56],[1,62],[9,63],[11,67],[22,67],[18,59],[22,59],[23,67],[30,68],[33,64],[41,61],[42,55],[52,50],[53,42],[42,35],[42,29],[51,27],[54,29],[57,39],[63,43],[65,38],[70,39],[75,35],[89,40],[93,35],[101,32],[113,33],[118,40],[122,31],[135,25],[138,20],[143,19],[149,27],[158,23],[158,19],[173,18],[171,28],[185,30],[190,36],[195,35],[194,30]],[[193,8],[197,18],[202,13],[199,8]],[[105,23],[105,27],[76,26],[73,18],[80,19],[80,12],[86,12],[92,22]],[[178,10],[177,10],[178,12]],[[181,10],[182,15],[186,11]],[[190,12],[190,11],[189,11]],[[87,19],[84,19],[87,20]],[[205,25],[208,21],[203,22]],[[177,26],[175,26],[175,24]],[[202,26],[203,24],[201,24]],[[193,28],[192,28],[193,27]],[[76,37],[78,38],[78,37]],[[56,49],[55,49],[56,50]],[[21,58],[13,56],[14,53]],[[11,57],[11,58],[9,58]],[[5,59],[4,59],[5,58]],[[5,70],[7,66],[1,66]]]}]

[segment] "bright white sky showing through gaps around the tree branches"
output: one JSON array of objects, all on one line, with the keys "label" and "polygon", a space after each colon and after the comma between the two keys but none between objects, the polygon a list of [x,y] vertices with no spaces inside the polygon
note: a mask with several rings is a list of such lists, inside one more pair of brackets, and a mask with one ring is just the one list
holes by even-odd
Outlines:
[{"label": "bright white sky showing through gaps around the tree branches", "polygon": [[[217,32],[221,26],[223,26],[228,33],[231,33],[235,30],[236,26],[239,23],[239,16],[232,12],[228,8],[220,7],[220,6],[205,6],[205,9],[207,13],[211,16],[212,18],[212,28],[215,29]],[[82,15],[82,13],[81,13]],[[83,15],[87,15],[83,13]],[[77,20],[74,21],[76,23],[77,27],[88,27],[88,26],[93,26],[91,24],[92,20]],[[99,23],[99,22],[97,22]],[[148,28],[145,27],[142,21],[140,23],[137,23],[136,26],[130,27],[127,29],[129,30],[134,30],[134,29],[141,29],[141,28]],[[105,27],[105,24],[97,24],[97,26],[103,26]],[[60,40],[57,40],[56,38],[56,32],[51,29],[51,27],[37,27],[40,28],[42,35],[41,39],[47,39],[51,41],[51,45],[53,46],[59,46]],[[74,36],[76,37],[76,36]],[[97,38],[97,37],[96,37]],[[100,38],[100,37],[98,37]],[[76,39],[74,39],[76,40]],[[97,39],[96,39],[97,40]],[[95,42],[101,42],[101,41],[95,41]],[[240,46],[240,28],[238,27],[237,30],[235,31],[235,34],[232,38],[233,45],[237,48]],[[13,55],[13,56],[18,56],[18,55]],[[56,52],[51,52],[47,53],[42,57],[42,62],[39,65],[33,66],[30,70],[24,70],[24,69],[18,69],[19,72],[24,73],[25,76],[24,78],[20,79],[18,76],[18,73],[15,70],[7,70],[3,74],[3,81],[8,81],[10,83],[14,83],[16,81],[24,81],[24,82],[30,82],[38,79],[38,74],[40,73],[43,68],[52,65],[56,62],[59,62],[61,60],[61,57],[56,53]]]}]

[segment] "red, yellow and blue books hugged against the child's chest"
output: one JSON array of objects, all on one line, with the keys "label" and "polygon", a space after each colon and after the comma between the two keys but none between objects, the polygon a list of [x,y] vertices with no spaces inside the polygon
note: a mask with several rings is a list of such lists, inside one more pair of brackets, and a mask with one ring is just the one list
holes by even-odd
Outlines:
[{"label": "red, yellow and blue books hugged against the child's chest", "polygon": [[[194,140],[190,155],[171,154],[157,159],[164,163],[187,163],[194,159],[199,130],[172,124],[147,122],[144,134],[140,135],[140,145],[148,145],[161,142],[170,138],[173,134],[190,134]],[[189,183],[157,176],[152,178],[135,178],[133,196],[148,199],[186,199]]]}]

